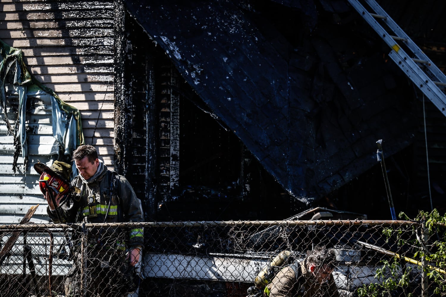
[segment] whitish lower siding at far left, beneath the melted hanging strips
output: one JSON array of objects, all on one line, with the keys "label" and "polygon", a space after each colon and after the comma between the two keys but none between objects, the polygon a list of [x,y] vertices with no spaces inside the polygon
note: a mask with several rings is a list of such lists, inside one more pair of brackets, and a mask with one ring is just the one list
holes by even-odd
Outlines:
[{"label": "whitish lower siding at far left, beneath the melted hanging strips", "polygon": [[[9,94],[10,95],[10,94]],[[12,98],[12,96],[7,96]],[[39,175],[33,168],[33,164],[40,161],[51,165],[57,158],[54,148],[58,145],[53,137],[51,99],[48,95],[28,94],[28,102],[32,108],[27,114],[29,119],[28,132],[28,166],[25,167],[25,159],[21,156],[17,160],[17,170],[14,171],[14,147],[13,136],[9,134],[4,120],[4,110],[0,107],[0,224],[19,223],[28,209],[40,204],[31,219],[36,223],[48,223],[46,215],[46,201],[43,199],[37,180]],[[17,100],[8,100],[9,109],[7,116],[10,122],[17,118]]]}]

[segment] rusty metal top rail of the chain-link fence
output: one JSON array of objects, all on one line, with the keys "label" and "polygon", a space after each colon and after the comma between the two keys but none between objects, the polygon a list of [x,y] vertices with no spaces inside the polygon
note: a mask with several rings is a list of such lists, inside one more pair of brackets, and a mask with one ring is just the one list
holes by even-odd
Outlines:
[{"label": "rusty metal top rail of the chain-link fence", "polygon": [[126,222],[126,223],[70,223],[70,224],[3,224],[0,230],[25,231],[67,228],[100,227],[218,227],[218,226],[307,226],[307,225],[419,225],[419,222],[405,220],[267,220],[267,221],[200,221],[200,222]]}]

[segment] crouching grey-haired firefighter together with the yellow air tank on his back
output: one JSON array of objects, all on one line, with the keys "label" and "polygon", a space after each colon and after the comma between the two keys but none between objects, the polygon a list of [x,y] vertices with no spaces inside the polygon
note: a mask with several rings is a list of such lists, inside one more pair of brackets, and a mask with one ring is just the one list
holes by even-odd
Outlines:
[{"label": "crouching grey-haired firefighter together with the yellow air tank on his back", "polygon": [[265,267],[248,289],[248,297],[339,297],[332,276],[335,254],[323,247],[314,248],[304,260],[283,251]]}]

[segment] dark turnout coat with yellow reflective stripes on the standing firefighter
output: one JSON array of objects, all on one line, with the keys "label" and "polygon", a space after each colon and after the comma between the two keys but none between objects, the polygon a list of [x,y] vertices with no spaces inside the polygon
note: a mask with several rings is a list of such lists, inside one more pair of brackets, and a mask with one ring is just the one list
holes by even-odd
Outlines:
[{"label": "dark turnout coat with yellow reflective stripes on the standing firefighter", "polygon": [[[71,181],[73,186],[81,190],[80,195],[73,195],[65,205],[58,208],[59,217],[54,210],[47,208],[48,215],[54,223],[83,222],[85,218],[89,223],[116,223],[116,222],[142,222],[143,212],[141,201],[136,197],[135,191],[128,180],[115,171],[107,170],[107,166],[100,161],[98,171],[88,180],[78,175]],[[143,228],[125,228],[128,234],[117,238],[116,228],[93,229],[89,234],[96,243],[109,245],[113,249],[124,250],[124,239],[127,248],[143,247]],[[119,236],[122,237],[122,236]]]}]

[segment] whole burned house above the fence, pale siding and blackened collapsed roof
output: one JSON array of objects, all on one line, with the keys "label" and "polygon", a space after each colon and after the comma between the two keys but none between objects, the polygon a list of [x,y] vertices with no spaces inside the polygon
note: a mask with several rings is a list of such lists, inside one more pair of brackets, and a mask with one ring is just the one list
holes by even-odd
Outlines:
[{"label": "whole burned house above the fence, pale siding and blackened collapsed roof", "polygon": [[[444,5],[382,4],[444,69]],[[1,5],[1,39],[79,110],[84,142],[126,175],[151,220],[279,219],[310,206],[381,216],[379,139],[397,212],[427,205],[429,171],[434,199],[444,195],[444,116],[348,1]],[[11,154],[2,175],[27,175],[26,186],[4,179],[1,192],[19,215],[23,197],[40,197],[30,165],[41,152],[18,173]]]}]

